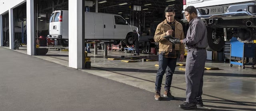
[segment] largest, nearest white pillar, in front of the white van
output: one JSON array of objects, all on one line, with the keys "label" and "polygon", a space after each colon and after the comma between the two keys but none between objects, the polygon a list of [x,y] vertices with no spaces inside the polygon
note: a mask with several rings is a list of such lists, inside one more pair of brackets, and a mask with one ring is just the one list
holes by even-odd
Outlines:
[{"label": "largest, nearest white pillar, in front of the white van", "polygon": [[[68,66],[82,69],[82,0],[68,0]],[[84,13],[84,12],[83,12]]]}]

